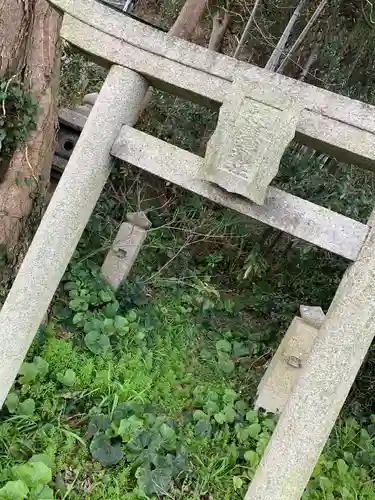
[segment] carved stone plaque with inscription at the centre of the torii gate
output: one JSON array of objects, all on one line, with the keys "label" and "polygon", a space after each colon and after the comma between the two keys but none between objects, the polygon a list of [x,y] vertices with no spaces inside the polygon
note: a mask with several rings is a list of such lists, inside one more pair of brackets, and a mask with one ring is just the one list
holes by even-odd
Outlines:
[{"label": "carved stone plaque with inscription at the centre of the torii gate", "polygon": [[202,176],[226,191],[262,205],[281,157],[294,138],[302,104],[284,92],[275,75],[272,85],[233,83],[205,156]]}]

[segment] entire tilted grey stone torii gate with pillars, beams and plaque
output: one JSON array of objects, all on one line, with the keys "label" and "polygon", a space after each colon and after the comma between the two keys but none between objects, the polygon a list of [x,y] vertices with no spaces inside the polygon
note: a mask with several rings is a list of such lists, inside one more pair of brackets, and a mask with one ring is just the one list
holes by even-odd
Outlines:
[{"label": "entire tilted grey stone torii gate with pillars, beams and plaque", "polygon": [[[0,312],[0,406],[120,158],[351,261],[247,500],[297,500],[375,334],[375,231],[269,186],[294,136],[375,167],[375,108],[169,37],[95,0],[51,0],[62,36],[110,67]],[[133,128],[147,88],[221,107],[204,159]],[[241,195],[241,196],[240,196]]]}]

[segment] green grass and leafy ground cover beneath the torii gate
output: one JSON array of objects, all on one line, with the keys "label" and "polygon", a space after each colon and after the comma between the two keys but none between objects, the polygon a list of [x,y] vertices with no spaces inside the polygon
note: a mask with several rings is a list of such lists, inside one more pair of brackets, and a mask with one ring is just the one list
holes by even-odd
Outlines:
[{"label": "green grass and leafy ground cover beneath the torii gate", "polygon": [[[233,301],[178,285],[129,307],[130,288],[115,298],[93,263],[70,266],[0,413],[0,487],[31,459],[52,473],[26,479],[27,498],[243,498],[275,418],[251,409],[242,360],[257,358],[254,342],[218,327],[233,326]],[[126,332],[108,333],[113,305]],[[93,317],[110,338],[99,354],[85,344]],[[338,422],[304,498],[375,498],[374,423]],[[0,498],[25,498],[6,488]]]}]

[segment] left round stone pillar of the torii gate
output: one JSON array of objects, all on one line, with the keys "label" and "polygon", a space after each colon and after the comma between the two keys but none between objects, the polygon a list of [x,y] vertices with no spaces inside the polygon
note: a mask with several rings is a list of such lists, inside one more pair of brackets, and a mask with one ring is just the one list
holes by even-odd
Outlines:
[{"label": "left round stone pillar of the torii gate", "polygon": [[110,173],[112,145],[134,125],[148,84],[111,68],[0,312],[0,407]]}]

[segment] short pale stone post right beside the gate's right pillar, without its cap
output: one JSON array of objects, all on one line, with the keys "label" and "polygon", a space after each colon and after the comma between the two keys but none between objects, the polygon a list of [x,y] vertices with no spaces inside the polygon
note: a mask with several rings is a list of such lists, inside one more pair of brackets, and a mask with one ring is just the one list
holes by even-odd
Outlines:
[{"label": "short pale stone post right beside the gate's right pillar, without its cap", "polygon": [[256,408],[282,413],[314,345],[318,330],[294,318],[259,386]]}]

